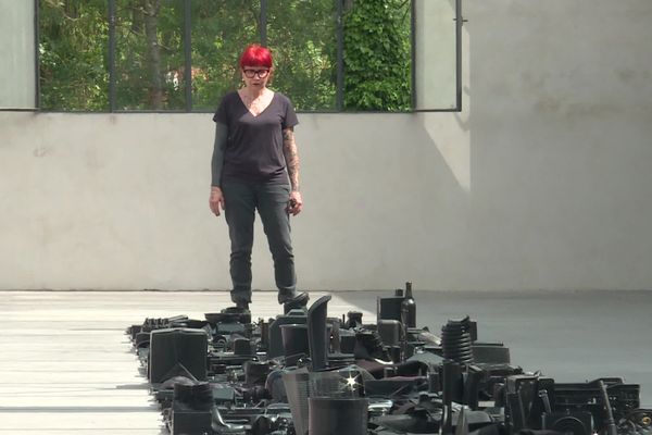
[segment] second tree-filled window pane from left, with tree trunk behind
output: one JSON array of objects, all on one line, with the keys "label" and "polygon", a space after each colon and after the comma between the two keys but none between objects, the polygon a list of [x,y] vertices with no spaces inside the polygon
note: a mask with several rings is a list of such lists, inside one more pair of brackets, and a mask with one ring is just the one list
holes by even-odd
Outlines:
[{"label": "second tree-filled window pane from left, with tree trunk behind", "polygon": [[118,0],[117,110],[184,110],[183,0]]}]

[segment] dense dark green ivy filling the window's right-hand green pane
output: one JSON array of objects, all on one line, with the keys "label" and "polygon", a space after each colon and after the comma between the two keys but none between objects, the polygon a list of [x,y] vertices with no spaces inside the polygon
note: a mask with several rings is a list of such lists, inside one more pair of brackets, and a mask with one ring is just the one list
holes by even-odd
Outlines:
[{"label": "dense dark green ivy filling the window's right-hand green pane", "polygon": [[354,0],[344,16],[344,108],[411,107],[410,2]]}]

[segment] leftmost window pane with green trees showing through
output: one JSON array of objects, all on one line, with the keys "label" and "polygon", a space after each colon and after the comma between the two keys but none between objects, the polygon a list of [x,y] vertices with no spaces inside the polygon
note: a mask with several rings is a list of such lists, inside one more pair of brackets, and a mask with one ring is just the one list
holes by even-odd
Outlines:
[{"label": "leftmost window pane with green trees showing through", "polygon": [[109,110],[104,0],[39,2],[40,105]]}]

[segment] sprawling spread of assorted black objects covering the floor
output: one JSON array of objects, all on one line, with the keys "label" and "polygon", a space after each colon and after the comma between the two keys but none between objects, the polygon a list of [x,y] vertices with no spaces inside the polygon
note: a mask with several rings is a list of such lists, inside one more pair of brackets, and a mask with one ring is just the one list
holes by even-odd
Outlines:
[{"label": "sprawling spread of assorted black objects covering the floor", "polygon": [[[329,296],[268,321],[228,308],[127,334],[174,434],[652,435],[640,386],[556,383],[477,340],[468,316],[416,327],[406,283],[378,320],[327,318]],[[414,302],[414,303],[412,303]]]}]

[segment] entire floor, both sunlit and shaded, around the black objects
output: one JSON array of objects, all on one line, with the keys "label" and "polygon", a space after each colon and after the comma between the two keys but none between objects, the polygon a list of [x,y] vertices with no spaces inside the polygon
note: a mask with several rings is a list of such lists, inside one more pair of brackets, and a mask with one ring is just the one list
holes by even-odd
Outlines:
[{"label": "entire floor, both sunlit and shaded, around the black objects", "polygon": [[[316,300],[322,293],[311,293]],[[375,319],[389,291],[334,294],[329,315]],[[254,294],[254,318],[276,295]],[[437,332],[469,314],[479,339],[503,341],[512,362],[559,382],[623,376],[652,406],[652,293],[416,291],[417,323]],[[0,291],[0,434],[166,434],[124,334],[145,318],[202,319],[227,293]]]}]

